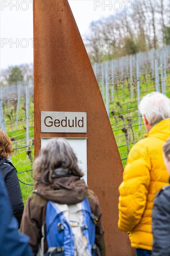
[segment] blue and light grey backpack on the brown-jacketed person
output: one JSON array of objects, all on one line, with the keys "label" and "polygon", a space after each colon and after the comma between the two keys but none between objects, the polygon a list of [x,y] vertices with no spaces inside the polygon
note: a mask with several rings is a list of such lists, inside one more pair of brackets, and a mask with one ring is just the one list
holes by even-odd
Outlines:
[{"label": "blue and light grey backpack on the brown-jacketed person", "polygon": [[48,201],[46,236],[43,225],[37,256],[44,255],[44,238],[48,244],[45,256],[98,256],[99,251],[95,244],[97,221],[87,198],[72,205]]}]

